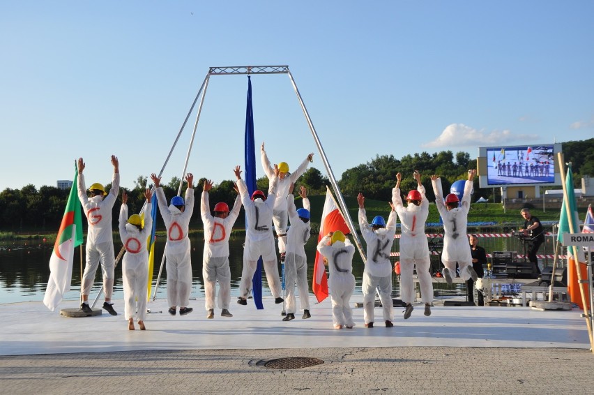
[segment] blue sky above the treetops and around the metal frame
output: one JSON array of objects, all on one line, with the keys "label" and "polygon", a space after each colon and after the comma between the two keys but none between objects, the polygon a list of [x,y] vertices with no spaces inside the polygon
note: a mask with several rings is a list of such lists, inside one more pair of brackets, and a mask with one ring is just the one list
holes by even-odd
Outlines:
[{"label": "blue sky above the treetops and around the metal frame", "polygon": [[[337,179],[376,155],[594,136],[593,1],[1,1],[0,190],[159,172],[210,66],[288,65]],[[188,171],[243,167],[245,75],[212,76]],[[287,75],[252,77],[256,144],[314,140]],[[180,176],[195,115],[163,180]],[[264,175],[264,172],[258,174]]]}]

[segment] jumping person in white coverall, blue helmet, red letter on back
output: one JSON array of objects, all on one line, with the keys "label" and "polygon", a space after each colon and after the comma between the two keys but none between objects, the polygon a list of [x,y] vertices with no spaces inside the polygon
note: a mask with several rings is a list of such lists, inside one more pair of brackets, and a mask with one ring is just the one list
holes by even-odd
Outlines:
[{"label": "jumping person in white coverall, blue helmet, red letter on back", "polygon": [[167,207],[167,199],[161,188],[161,177],[151,174],[155,183],[159,211],[167,228],[167,242],[165,243],[165,270],[167,271],[167,303],[169,314],[175,315],[179,306],[179,315],[186,315],[194,310],[190,304],[192,291],[192,259],[190,257],[190,218],[194,211],[194,176],[188,173],[185,181],[188,188],[185,190],[185,201],[181,196],[174,196]]}]

